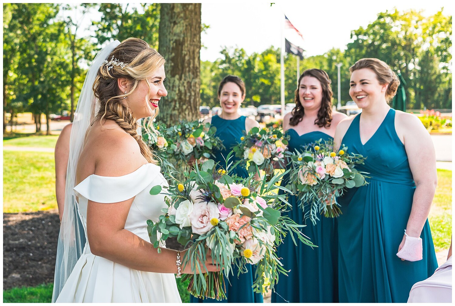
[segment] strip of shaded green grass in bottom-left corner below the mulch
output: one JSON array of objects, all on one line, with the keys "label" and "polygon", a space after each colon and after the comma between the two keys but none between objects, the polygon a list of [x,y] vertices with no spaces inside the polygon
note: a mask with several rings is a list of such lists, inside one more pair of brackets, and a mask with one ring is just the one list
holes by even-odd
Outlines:
[{"label": "strip of shaded green grass in bottom-left corner below the mulch", "polygon": [[51,303],[54,284],[15,287],[3,291],[4,303]]}]

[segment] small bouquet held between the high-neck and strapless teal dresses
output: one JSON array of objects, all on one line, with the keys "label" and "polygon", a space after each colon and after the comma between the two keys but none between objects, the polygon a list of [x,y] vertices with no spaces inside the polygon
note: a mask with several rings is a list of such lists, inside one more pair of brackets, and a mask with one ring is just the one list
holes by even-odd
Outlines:
[{"label": "small bouquet held between the high-neck and strapless teal dresses", "polygon": [[284,158],[290,155],[287,150],[289,136],[283,137],[278,128],[252,128],[245,133],[241,142],[233,148],[235,156],[241,158],[243,167],[249,163],[248,172],[258,169],[267,174],[273,173],[272,161],[284,163]]}]

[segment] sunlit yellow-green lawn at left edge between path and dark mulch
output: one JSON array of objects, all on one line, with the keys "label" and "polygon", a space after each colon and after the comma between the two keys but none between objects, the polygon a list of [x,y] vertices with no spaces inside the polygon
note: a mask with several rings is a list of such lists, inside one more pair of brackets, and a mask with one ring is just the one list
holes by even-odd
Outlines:
[{"label": "sunlit yellow-green lawn at left edge between path and dark mulch", "polygon": [[3,212],[56,208],[54,153],[3,151]]}]

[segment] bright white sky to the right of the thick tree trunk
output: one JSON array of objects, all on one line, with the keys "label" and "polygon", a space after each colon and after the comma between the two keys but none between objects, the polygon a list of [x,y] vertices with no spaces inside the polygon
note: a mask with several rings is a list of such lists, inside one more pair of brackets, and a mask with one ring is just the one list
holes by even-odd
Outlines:
[{"label": "bright white sky to the right of the thick tree trunk", "polygon": [[[227,2],[227,1],[226,1]],[[305,56],[324,54],[332,47],[344,50],[350,33],[366,27],[386,10],[424,10],[432,15],[444,7],[452,15],[454,1],[449,0],[380,0],[380,1],[280,1],[270,6],[264,1],[202,2],[202,23],[210,28],[202,33],[201,60],[219,58],[222,46],[243,48],[247,54],[279,47],[281,20],[285,14],[303,35],[285,30],[293,44],[302,47]],[[293,35],[292,35],[293,34]]]}]

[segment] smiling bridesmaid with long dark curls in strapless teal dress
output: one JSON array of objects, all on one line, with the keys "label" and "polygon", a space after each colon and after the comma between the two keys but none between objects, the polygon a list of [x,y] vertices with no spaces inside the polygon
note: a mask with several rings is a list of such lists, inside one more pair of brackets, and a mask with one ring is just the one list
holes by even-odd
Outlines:
[{"label": "smiling bridesmaid with long dark curls in strapless teal dress", "polygon": [[[289,150],[301,150],[316,140],[333,139],[335,129],[347,117],[332,111],[332,88],[327,73],[309,69],[302,73],[295,91],[295,108],[283,119],[283,131],[290,136]],[[289,166],[288,166],[289,167]],[[282,184],[287,184],[288,177]],[[292,209],[288,216],[302,224],[303,211],[296,196],[289,195]],[[319,216],[316,225],[308,219],[302,229],[318,248],[293,244],[287,236],[278,247],[278,257],[288,276],[280,277],[272,292],[272,303],[332,303],[338,302],[337,251],[335,219]]]}]

